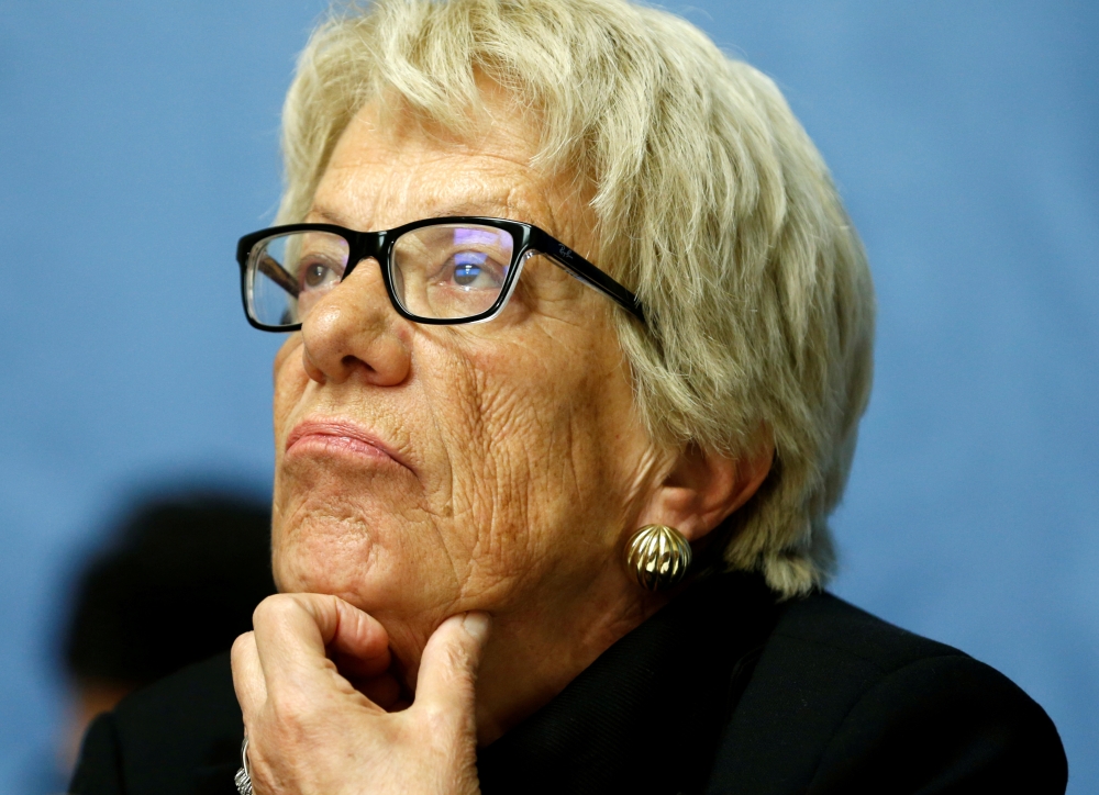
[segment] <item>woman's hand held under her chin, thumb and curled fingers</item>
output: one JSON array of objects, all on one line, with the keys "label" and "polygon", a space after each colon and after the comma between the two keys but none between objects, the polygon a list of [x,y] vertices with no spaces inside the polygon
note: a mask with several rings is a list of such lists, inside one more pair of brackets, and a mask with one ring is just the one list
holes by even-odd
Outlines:
[{"label": "woman's hand held under her chin, thumb and curled fingers", "polygon": [[366,613],[336,596],[281,594],[256,608],[254,626],[233,645],[233,683],[256,795],[479,791],[474,683],[486,614],[439,626],[414,702],[392,713],[389,638]]}]

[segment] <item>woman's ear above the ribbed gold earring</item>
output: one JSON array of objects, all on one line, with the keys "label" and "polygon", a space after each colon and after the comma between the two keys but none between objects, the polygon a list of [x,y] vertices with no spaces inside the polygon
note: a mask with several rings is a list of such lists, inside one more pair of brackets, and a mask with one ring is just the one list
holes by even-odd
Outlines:
[{"label": "woman's ear above the ribbed gold earring", "polygon": [[700,540],[756,493],[774,456],[769,435],[739,458],[687,445],[642,508],[637,526],[667,525],[688,541]]}]

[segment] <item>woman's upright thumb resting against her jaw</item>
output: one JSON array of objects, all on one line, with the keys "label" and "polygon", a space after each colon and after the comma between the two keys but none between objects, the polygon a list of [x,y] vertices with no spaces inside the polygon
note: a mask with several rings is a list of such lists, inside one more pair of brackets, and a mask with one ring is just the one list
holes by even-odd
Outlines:
[{"label": "woman's upright thumb resting against her jaw", "polygon": [[487,613],[451,616],[428,640],[412,708],[433,707],[473,720],[481,652],[491,630]]}]

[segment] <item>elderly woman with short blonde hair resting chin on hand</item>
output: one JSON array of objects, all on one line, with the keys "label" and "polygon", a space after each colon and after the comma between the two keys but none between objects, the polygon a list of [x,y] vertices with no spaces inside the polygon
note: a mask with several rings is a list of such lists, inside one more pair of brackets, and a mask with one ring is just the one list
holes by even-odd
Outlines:
[{"label": "elderly woman with short blonde hair resting chin on hand", "polygon": [[74,792],[1064,790],[1018,687],[821,590],[874,299],[768,79],[622,0],[382,0],[284,147],[281,593]]}]

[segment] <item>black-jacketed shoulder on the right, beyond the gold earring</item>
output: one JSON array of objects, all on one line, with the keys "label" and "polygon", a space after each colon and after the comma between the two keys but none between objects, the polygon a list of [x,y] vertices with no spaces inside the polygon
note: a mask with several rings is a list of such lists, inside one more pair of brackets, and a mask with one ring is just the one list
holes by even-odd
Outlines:
[{"label": "black-jacketed shoulder on the right, beyond the gold earring", "polygon": [[826,593],[785,609],[715,762],[711,792],[1046,793],[1067,779],[1053,723],[1010,680]]}]

